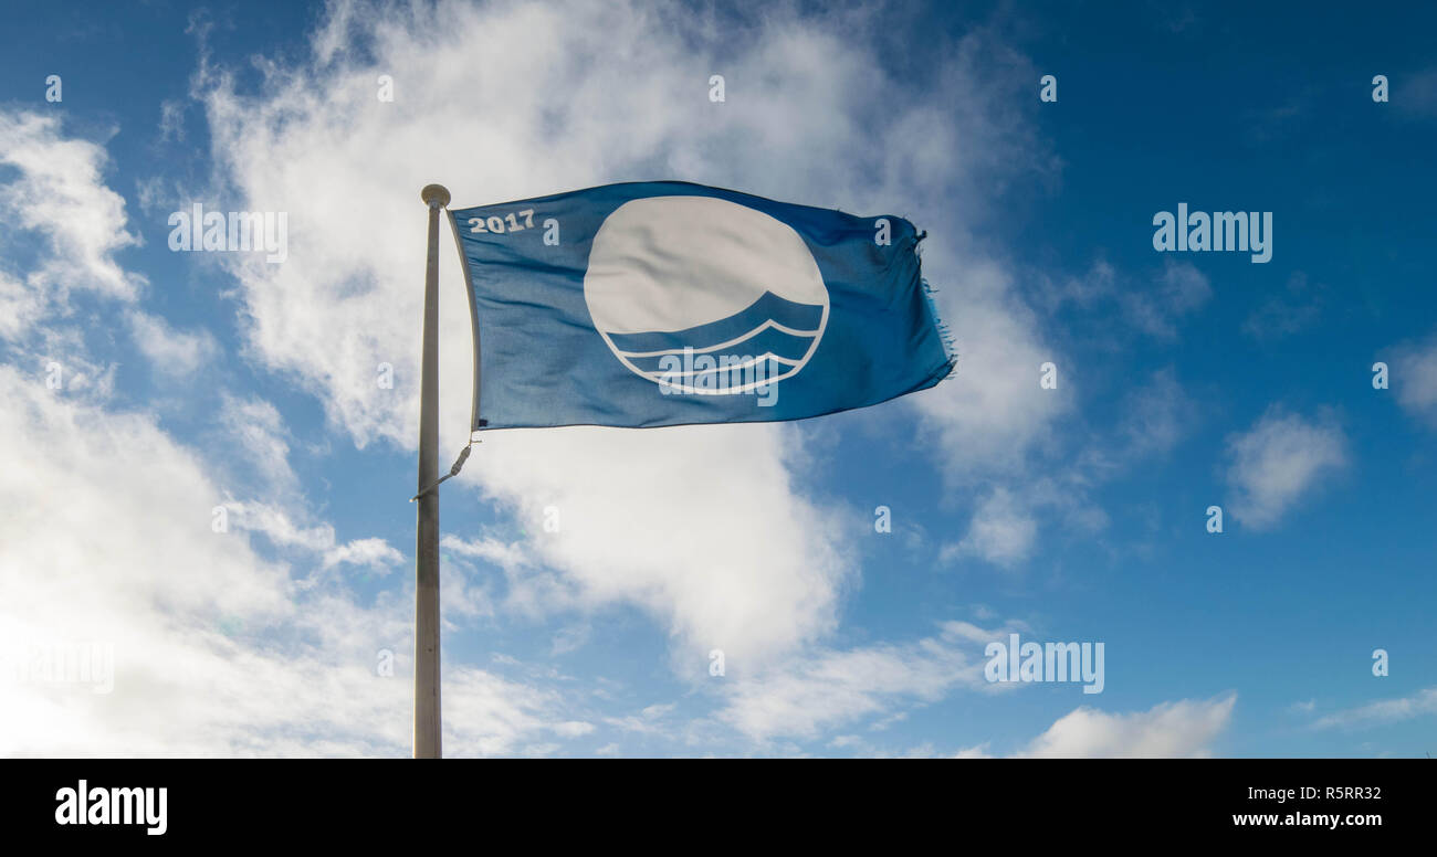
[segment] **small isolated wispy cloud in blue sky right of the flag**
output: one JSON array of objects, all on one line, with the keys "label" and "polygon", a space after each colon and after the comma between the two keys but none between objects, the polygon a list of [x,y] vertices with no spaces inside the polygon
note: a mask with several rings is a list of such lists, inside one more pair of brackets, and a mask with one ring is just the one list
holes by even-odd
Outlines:
[{"label": "small isolated wispy cloud in blue sky right of the flag", "polygon": [[1233,515],[1255,530],[1273,527],[1305,494],[1348,462],[1346,435],[1332,419],[1270,408],[1227,442]]}]

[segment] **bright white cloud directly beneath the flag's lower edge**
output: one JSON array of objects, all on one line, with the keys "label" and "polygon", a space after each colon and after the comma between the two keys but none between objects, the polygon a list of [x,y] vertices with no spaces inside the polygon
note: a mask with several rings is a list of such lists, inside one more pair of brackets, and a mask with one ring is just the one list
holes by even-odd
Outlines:
[{"label": "bright white cloud directly beneath the flag's lower edge", "polygon": [[569,606],[637,603],[675,657],[723,649],[752,666],[829,632],[851,573],[848,533],[792,488],[782,431],[504,432],[471,461],[520,520],[558,512],[559,530],[530,541],[563,570]]}]

